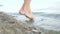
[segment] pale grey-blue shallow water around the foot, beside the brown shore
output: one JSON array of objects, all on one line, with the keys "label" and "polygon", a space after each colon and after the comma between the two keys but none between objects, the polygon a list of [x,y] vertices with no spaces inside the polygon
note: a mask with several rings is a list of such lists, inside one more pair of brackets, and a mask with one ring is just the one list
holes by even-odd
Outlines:
[{"label": "pale grey-blue shallow water around the foot, beside the brown shore", "polygon": [[[28,20],[25,16],[18,13],[9,13],[8,15],[13,16],[23,23],[26,23],[26,20]],[[42,12],[34,12],[33,15],[35,16],[35,22],[33,23],[33,26],[36,27],[38,31],[48,31],[50,32],[50,34],[60,34],[60,14],[46,14]],[[30,22],[28,21],[27,23]]]}]

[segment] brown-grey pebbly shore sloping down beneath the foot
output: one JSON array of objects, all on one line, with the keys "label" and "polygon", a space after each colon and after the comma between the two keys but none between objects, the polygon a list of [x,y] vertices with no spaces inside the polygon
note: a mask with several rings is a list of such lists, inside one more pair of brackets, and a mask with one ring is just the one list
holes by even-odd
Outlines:
[{"label": "brown-grey pebbly shore sloping down beneath the foot", "polygon": [[22,23],[3,12],[0,12],[0,34],[41,34],[34,26]]}]

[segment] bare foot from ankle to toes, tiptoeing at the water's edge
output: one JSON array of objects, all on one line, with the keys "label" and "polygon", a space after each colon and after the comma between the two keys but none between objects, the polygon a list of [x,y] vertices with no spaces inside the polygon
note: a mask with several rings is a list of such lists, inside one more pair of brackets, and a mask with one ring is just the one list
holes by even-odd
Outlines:
[{"label": "bare foot from ankle to toes, tiptoeing at the water's edge", "polygon": [[23,7],[19,11],[20,14],[25,15],[30,20],[34,21],[34,17],[32,15],[31,9],[29,7]]}]

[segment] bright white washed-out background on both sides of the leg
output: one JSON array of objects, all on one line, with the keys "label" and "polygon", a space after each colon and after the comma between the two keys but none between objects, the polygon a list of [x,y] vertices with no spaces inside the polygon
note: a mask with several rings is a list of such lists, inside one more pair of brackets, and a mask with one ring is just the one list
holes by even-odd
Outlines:
[{"label": "bright white washed-out background on both sides of the leg", "polygon": [[[18,13],[24,0],[0,0],[0,11]],[[32,12],[60,14],[60,0],[32,0]]]}]

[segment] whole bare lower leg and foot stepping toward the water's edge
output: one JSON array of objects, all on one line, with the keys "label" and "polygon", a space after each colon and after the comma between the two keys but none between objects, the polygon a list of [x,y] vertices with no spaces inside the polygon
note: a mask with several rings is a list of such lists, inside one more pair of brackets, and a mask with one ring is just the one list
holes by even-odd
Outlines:
[{"label": "whole bare lower leg and foot stepping toward the water's edge", "polygon": [[34,21],[34,17],[32,15],[32,11],[30,9],[30,2],[31,0],[24,0],[24,4],[22,8],[20,9],[19,13],[22,15],[25,15],[30,20]]}]

